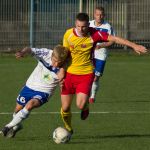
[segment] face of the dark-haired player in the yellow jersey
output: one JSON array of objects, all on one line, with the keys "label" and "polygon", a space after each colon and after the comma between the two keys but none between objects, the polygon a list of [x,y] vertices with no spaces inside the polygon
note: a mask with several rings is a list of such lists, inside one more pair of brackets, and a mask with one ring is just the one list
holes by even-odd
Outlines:
[{"label": "face of the dark-haired player in the yellow jersey", "polygon": [[76,29],[81,36],[86,36],[89,29],[89,23],[86,21],[76,20]]}]

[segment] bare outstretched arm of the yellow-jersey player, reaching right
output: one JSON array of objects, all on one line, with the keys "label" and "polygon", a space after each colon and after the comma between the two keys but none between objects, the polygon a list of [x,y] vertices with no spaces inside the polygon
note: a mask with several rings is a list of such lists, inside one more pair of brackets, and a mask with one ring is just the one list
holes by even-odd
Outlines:
[{"label": "bare outstretched arm of the yellow-jersey player, reaching right", "polygon": [[120,38],[120,37],[117,37],[117,36],[109,35],[108,36],[108,41],[112,41],[112,42],[115,42],[115,43],[120,44],[120,45],[126,45],[128,47],[131,47],[138,54],[147,52],[146,47],[144,47],[142,45],[138,45],[136,43],[133,43],[131,41],[128,41],[126,39],[123,39],[123,38]]}]

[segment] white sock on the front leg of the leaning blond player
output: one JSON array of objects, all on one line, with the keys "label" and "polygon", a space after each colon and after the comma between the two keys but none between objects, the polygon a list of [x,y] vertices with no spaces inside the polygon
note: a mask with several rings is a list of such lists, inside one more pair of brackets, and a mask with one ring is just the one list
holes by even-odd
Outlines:
[{"label": "white sock on the front leg of the leaning blond player", "polygon": [[29,111],[26,108],[21,109],[16,115],[14,115],[14,118],[10,123],[8,123],[6,126],[8,128],[12,128],[19,123],[22,122],[23,119],[27,118],[29,115]]}]

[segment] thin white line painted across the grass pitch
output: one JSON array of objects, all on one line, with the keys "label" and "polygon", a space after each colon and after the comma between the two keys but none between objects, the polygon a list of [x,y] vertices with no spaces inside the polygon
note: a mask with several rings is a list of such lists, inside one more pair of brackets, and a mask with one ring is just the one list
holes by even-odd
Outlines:
[{"label": "thin white line painted across the grass pitch", "polygon": [[[73,114],[80,114],[81,112],[72,112]],[[12,112],[1,112],[0,115],[10,115]],[[39,114],[60,114],[60,112],[32,112],[32,115]],[[90,114],[150,114],[150,111],[99,111],[99,112],[90,112]]]}]

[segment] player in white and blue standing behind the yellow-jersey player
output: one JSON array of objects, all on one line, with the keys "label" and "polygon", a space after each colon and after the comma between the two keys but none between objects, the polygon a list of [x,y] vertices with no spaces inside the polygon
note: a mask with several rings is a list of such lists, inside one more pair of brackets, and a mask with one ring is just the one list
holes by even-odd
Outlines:
[{"label": "player in white and blue standing behind the yellow-jersey player", "polygon": [[[90,27],[96,30],[106,32],[109,35],[115,35],[111,25],[104,20],[105,13],[103,7],[96,7],[94,11],[94,20],[90,21]],[[95,78],[92,84],[91,95],[89,98],[90,103],[95,102],[96,92],[100,86],[99,79],[103,75],[106,59],[107,47],[111,46],[113,42],[100,42],[97,43],[94,51],[94,65],[95,65]]]}]

